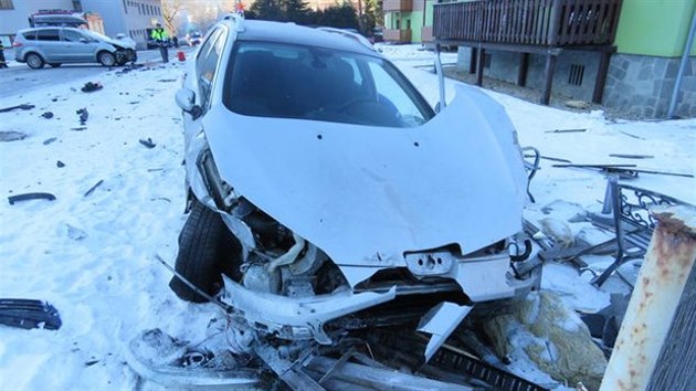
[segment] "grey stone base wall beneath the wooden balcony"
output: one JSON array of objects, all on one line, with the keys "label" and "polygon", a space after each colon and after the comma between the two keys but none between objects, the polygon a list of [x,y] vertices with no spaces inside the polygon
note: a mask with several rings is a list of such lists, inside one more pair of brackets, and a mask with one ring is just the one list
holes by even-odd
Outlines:
[{"label": "grey stone base wall beneath the wooden balcony", "polygon": [[[461,70],[468,70],[471,55],[471,47],[458,49],[457,66]],[[509,83],[517,82],[520,53],[486,51],[486,55],[491,55],[491,59],[486,61],[484,75]],[[681,57],[613,54],[602,104],[633,117],[665,118],[679,61]],[[599,63],[598,52],[563,51],[556,63],[552,93],[591,102]],[[542,91],[544,66],[544,55],[529,55],[528,88]],[[683,118],[696,117],[696,57],[690,57],[685,68],[675,115]]]}]

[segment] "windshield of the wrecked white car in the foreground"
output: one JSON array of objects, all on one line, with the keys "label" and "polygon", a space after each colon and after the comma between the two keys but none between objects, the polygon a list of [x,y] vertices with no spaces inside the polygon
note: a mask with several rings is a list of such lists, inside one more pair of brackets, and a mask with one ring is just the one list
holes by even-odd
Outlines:
[{"label": "windshield of the wrecked white car in the foreground", "polygon": [[238,42],[223,102],[234,113],[383,127],[433,117],[389,62],[369,55],[265,42]]}]

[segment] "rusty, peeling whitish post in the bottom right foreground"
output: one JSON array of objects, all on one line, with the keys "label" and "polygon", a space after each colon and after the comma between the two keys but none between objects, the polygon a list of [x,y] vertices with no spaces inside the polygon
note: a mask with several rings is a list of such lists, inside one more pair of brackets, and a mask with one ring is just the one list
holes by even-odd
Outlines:
[{"label": "rusty, peeling whitish post in the bottom right foreground", "polygon": [[696,208],[661,208],[653,215],[657,226],[601,391],[645,390],[696,260]]}]

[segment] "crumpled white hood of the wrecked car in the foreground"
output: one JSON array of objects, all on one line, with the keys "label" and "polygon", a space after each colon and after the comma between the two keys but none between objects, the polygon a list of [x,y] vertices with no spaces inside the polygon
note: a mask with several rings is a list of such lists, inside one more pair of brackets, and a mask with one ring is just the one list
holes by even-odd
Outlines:
[{"label": "crumpled white hood of the wrecked car in the foreground", "polygon": [[460,86],[415,128],[238,115],[203,120],[220,176],[337,264],[393,266],[403,253],[464,253],[521,229],[526,173],[500,105]]}]

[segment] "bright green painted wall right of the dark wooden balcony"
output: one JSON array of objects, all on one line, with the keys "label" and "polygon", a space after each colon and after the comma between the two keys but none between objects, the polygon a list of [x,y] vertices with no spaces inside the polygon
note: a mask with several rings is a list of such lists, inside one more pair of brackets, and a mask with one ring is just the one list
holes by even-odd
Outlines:
[{"label": "bright green painted wall right of the dark wooden balcony", "polygon": [[[681,56],[694,10],[694,0],[623,0],[614,41],[618,52]],[[696,55],[696,49],[692,47],[690,55]]]}]

